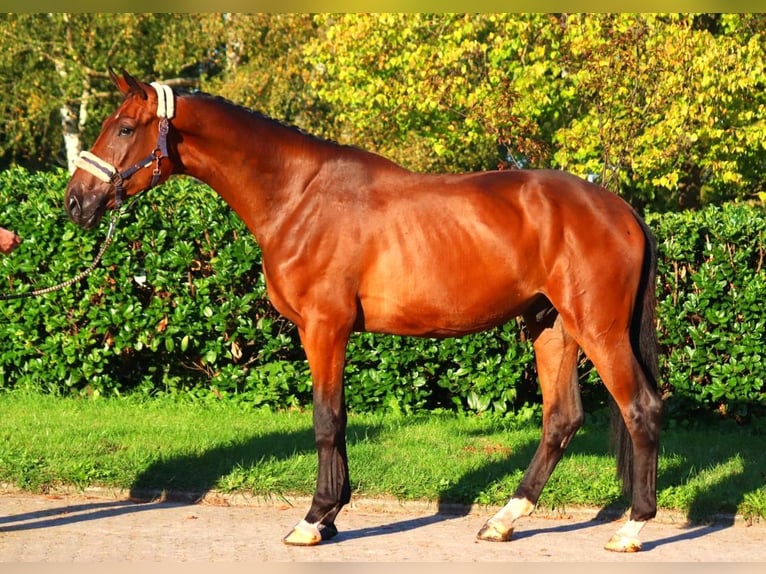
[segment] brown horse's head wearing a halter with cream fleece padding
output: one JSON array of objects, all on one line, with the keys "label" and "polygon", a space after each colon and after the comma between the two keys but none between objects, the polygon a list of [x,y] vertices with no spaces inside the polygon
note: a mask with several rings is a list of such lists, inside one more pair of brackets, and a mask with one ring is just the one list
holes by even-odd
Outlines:
[{"label": "brown horse's head wearing a halter with cream fleece padding", "polygon": [[86,229],[126,197],[165,181],[176,164],[168,145],[175,113],[170,88],[139,82],[125,71],[122,77],[109,73],[125,101],[104,121],[91,151],[80,154],[64,199],[70,219]]}]

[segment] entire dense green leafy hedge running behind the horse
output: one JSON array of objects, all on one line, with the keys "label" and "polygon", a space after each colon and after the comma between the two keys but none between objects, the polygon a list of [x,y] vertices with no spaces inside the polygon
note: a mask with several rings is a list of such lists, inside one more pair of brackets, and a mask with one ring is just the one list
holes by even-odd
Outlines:
[{"label": "entire dense green leafy hedge running behind the horse", "polygon": [[[103,241],[63,212],[64,172],[0,172],[0,225],[24,239],[0,257],[0,292],[41,288],[86,267]],[[662,385],[671,414],[744,416],[764,405],[762,208],[654,215],[660,245]],[[86,279],[0,301],[0,388],[185,393],[254,405],[310,403],[294,327],[265,298],[260,251],[214,192],[186,178],[149,192],[119,222]],[[506,411],[539,402],[517,322],[437,341],[358,334],[348,351],[356,411]],[[582,364],[586,400],[603,399]]]}]

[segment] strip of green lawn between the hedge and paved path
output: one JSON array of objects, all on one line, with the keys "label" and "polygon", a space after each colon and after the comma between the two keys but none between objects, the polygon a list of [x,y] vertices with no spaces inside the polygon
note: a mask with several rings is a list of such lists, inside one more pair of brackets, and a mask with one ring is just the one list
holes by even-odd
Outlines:
[{"label": "strip of green lawn between the hedge and paved path", "polygon": [[[225,401],[0,395],[0,482],[30,492],[102,486],[308,496],[310,412]],[[674,428],[675,427],[675,428]],[[607,424],[589,420],[539,505],[624,509]],[[350,415],[352,490],[362,497],[502,505],[537,448],[539,421],[492,416]],[[766,518],[766,433],[753,425],[664,429],[658,502],[693,521]]]}]

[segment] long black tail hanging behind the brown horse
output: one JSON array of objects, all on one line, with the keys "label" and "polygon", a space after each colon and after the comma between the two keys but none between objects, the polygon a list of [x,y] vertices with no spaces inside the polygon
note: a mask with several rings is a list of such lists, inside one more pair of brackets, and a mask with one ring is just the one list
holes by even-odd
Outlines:
[{"label": "long black tail hanging behind the brown horse", "polygon": [[[641,281],[631,319],[630,340],[633,354],[638,359],[644,376],[656,390],[659,379],[659,343],[655,324],[657,242],[646,223],[638,216],[636,219],[644,232],[645,242]],[[623,493],[629,495],[633,485],[633,443],[614,401],[612,401],[611,432],[617,452],[617,476],[622,482]]]}]

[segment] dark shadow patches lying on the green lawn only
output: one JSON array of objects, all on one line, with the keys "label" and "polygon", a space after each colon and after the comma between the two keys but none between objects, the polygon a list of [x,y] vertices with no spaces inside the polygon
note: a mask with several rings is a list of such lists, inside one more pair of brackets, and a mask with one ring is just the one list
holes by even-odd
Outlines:
[{"label": "dark shadow patches lying on the green lawn only", "polygon": [[[419,419],[416,417],[408,421],[405,418],[399,424],[418,425]],[[353,457],[353,445],[357,442],[385,442],[386,429],[386,425],[383,424],[350,422],[347,432],[350,456]],[[746,431],[740,430],[744,437]],[[565,458],[573,454],[608,455],[606,434],[603,421],[586,424],[570,444]],[[711,458],[710,451],[704,448],[705,445],[698,444],[700,436],[709,437],[710,433],[663,429],[661,441],[665,463],[658,476],[658,490],[672,491],[694,481],[706,468],[725,466],[732,457],[738,457],[742,472],[719,473],[717,481],[707,481],[704,486],[695,489],[693,498],[687,502],[687,519],[692,524],[733,524],[734,514],[744,497],[763,486],[766,462],[760,460],[755,452],[757,443],[750,445],[752,448],[742,444],[742,448],[737,452],[727,452],[725,445],[731,443],[724,442],[724,446],[719,447],[715,451],[717,454]],[[526,469],[536,448],[537,439],[530,439],[507,457],[488,457],[487,462],[464,473],[455,483],[439,492],[437,516],[446,519],[467,514],[469,504],[480,500],[483,492],[493,483],[502,481],[519,469]],[[256,468],[264,459],[286,461],[296,455],[314,456],[314,453],[314,435],[310,428],[289,433],[264,434],[241,442],[216,446],[200,453],[159,460],[137,477],[131,488],[131,496],[151,499],[162,495],[171,500],[192,502],[215,488],[221,477],[227,476],[237,467]],[[313,483],[314,476],[310,479]],[[507,498],[511,495],[510,491],[505,494]],[[613,497],[597,511],[595,520],[615,520],[628,510],[629,505],[630,501],[625,497]],[[416,524],[413,524],[413,527],[415,526]]]}]

